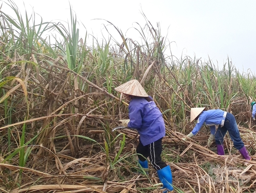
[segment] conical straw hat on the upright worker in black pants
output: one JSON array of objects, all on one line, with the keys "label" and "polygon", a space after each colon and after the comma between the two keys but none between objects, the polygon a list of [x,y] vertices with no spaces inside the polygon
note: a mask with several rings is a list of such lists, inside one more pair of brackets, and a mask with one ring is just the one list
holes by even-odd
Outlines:
[{"label": "conical straw hat on the upright worker in black pants", "polygon": [[133,96],[148,97],[142,85],[136,79],[128,81],[115,88],[116,91]]}]

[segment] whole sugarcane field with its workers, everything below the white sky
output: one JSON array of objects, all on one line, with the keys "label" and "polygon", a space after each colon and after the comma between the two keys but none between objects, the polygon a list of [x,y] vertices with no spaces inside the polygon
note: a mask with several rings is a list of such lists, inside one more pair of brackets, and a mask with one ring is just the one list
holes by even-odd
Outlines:
[{"label": "whole sugarcane field with its workers, everything below the white sky", "polygon": [[104,21],[118,36],[88,43],[71,6],[66,25],[6,2],[1,193],[256,193],[253,72],[166,55],[146,15],[140,40]]}]

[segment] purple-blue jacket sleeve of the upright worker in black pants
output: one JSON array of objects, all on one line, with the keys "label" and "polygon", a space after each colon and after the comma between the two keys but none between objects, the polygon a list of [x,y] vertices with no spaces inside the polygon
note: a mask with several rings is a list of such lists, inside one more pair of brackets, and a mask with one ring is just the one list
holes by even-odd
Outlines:
[{"label": "purple-blue jacket sleeve of the upright worker in black pants", "polygon": [[129,106],[129,118],[130,122],[128,123],[129,128],[139,129],[142,126],[142,109],[137,105]]}]

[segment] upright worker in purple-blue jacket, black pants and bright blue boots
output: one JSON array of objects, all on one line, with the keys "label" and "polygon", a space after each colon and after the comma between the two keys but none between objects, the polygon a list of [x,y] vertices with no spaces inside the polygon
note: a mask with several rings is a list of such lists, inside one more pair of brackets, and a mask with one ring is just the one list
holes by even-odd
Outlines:
[{"label": "upright worker in purple-blue jacket, black pants and bright blue boots", "polygon": [[145,158],[149,157],[158,178],[163,183],[163,193],[173,191],[171,168],[161,158],[162,139],[165,136],[165,122],[161,111],[135,79],[120,85],[115,90],[123,93],[130,101],[128,106],[130,119],[120,120],[122,122],[120,125],[137,129],[140,134],[136,152],[143,156],[138,154],[139,164],[148,169],[148,161]]}]

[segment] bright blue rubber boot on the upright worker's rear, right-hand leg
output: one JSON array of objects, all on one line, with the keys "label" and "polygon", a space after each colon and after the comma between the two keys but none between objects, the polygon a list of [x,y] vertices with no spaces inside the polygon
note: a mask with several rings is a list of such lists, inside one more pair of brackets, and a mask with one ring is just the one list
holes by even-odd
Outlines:
[{"label": "bright blue rubber boot on the upright worker's rear, right-hand leg", "polygon": [[158,178],[163,183],[164,190],[163,193],[167,193],[168,191],[173,191],[172,187],[172,172],[170,166],[166,166],[161,170],[157,170]]}]

